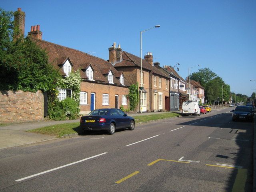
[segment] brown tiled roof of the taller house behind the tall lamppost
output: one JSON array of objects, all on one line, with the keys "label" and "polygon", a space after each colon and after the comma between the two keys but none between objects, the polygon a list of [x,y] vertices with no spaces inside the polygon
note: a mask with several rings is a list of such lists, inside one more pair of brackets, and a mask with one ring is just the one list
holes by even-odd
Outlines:
[{"label": "brown tiled roof of the taller house behind the tall lamppost", "polygon": [[[133,54],[130,54],[126,51],[122,51],[122,61],[121,62],[117,62],[115,64],[115,67],[128,67],[128,66],[132,66],[132,67],[140,67],[140,57],[137,57]],[[155,68],[154,66],[152,66],[151,64],[149,64],[148,62],[146,62],[144,59],[142,59],[142,69],[146,69],[149,71],[152,71],[153,74],[157,74],[163,77],[167,77],[168,75],[164,74],[162,71],[158,70],[157,68]]]}]

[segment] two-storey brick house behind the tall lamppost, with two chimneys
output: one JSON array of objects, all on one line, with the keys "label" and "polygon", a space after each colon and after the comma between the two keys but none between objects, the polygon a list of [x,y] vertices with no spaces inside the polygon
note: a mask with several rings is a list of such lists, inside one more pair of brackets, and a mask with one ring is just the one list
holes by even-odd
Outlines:
[{"label": "two-storey brick house behind the tall lamppost, with two chimneys", "polygon": [[[138,82],[140,86],[140,58],[122,51],[120,45],[113,44],[109,51],[109,62],[118,70],[130,84]],[[153,56],[150,52],[142,59],[142,88],[141,102],[137,112],[169,110],[169,77],[153,65]],[[141,106],[140,106],[141,104]]]}]

